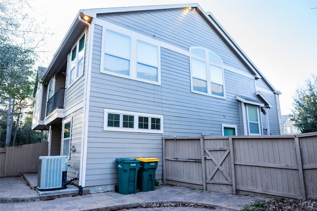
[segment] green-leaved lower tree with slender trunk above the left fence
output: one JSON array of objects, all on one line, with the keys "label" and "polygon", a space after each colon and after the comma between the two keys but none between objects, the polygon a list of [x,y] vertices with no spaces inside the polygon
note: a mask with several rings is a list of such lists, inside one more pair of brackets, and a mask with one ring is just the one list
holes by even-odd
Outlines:
[{"label": "green-leaved lower tree with slender trunk above the left fence", "polygon": [[[7,121],[5,146],[9,145],[12,134],[13,118],[19,116],[22,105],[32,96],[34,60],[32,51],[0,42],[0,97],[6,102]],[[20,112],[15,109],[20,106]],[[18,124],[18,122],[17,122]]]}]

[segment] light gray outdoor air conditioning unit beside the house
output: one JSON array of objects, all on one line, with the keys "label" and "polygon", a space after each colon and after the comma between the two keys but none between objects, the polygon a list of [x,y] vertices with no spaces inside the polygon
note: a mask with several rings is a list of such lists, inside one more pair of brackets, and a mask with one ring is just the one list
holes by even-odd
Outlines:
[{"label": "light gray outdoor air conditioning unit beside the house", "polygon": [[40,156],[38,169],[39,191],[65,189],[67,156]]}]

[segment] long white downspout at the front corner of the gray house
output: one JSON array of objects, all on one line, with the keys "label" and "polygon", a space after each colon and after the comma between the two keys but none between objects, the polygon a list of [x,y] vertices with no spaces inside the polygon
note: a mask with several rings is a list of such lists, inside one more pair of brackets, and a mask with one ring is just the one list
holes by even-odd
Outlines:
[{"label": "long white downspout at the front corner of the gray house", "polygon": [[[78,20],[80,22],[83,22],[84,24],[86,24],[88,26],[88,33],[91,33],[91,25],[83,20],[81,18],[81,15],[78,15]],[[86,34],[86,36],[88,36]],[[87,37],[86,37],[87,38]],[[90,36],[88,38],[89,40],[91,39]],[[89,50],[88,50],[88,54],[87,54],[87,74],[86,74],[86,80],[85,80],[85,84],[86,84],[86,87],[85,87],[85,100],[84,100],[84,105],[83,105],[83,130],[82,130],[82,140],[81,140],[81,155],[80,155],[80,169],[79,169],[79,195],[82,195],[83,194],[83,186],[85,187],[85,178],[86,178],[86,162],[84,162],[87,158],[87,131],[88,131],[88,123],[86,123],[86,119],[88,120],[88,116],[87,116],[87,107],[89,105],[89,102],[87,104],[87,100],[89,100],[89,97],[87,97],[87,88],[88,88],[88,78],[89,78],[89,72],[90,72],[90,49],[91,49],[91,45],[89,43]],[[88,93],[89,95],[89,93]],[[88,99],[87,99],[88,98]],[[87,128],[87,129],[86,129]],[[83,170],[85,168],[85,170]]]}]

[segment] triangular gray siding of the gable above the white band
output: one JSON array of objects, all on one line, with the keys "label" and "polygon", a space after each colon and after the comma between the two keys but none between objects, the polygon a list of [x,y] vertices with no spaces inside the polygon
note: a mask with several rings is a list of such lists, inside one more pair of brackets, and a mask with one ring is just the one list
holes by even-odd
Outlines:
[{"label": "triangular gray siding of the gable above the white band", "polygon": [[251,73],[197,11],[178,9],[99,18],[183,49],[207,47],[220,56],[224,64]]}]

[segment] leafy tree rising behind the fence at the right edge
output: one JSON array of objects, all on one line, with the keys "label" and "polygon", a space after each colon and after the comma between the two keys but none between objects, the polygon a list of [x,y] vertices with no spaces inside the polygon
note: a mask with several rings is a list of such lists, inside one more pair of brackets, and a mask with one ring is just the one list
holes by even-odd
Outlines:
[{"label": "leafy tree rising behind the fence at the right edge", "polygon": [[292,121],[302,132],[317,131],[317,75],[312,75],[306,84],[293,96]]}]

